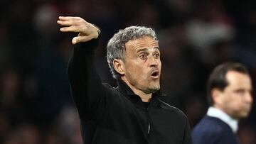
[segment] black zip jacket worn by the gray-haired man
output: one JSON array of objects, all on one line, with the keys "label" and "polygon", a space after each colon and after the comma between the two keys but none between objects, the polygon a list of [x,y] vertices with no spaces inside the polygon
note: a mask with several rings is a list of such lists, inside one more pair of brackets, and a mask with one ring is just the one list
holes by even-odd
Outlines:
[{"label": "black zip jacket worn by the gray-haired man", "polygon": [[186,116],[152,95],[149,106],[127,84],[102,84],[94,66],[97,39],[75,45],[68,66],[73,99],[78,108],[83,143],[191,143]]}]

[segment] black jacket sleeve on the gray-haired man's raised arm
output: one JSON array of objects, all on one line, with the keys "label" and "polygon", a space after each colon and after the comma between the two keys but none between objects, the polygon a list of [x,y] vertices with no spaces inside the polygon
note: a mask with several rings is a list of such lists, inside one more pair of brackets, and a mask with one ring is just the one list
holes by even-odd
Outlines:
[{"label": "black jacket sleeve on the gray-haired man's raised arm", "polygon": [[104,113],[106,88],[94,65],[98,38],[75,45],[68,63],[68,79],[80,119],[97,121]]}]

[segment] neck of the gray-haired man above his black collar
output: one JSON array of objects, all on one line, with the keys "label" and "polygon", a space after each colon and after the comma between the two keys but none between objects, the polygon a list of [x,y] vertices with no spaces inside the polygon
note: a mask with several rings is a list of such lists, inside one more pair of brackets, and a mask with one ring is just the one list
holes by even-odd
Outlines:
[{"label": "neck of the gray-haired man above his black collar", "polygon": [[128,85],[129,88],[132,89],[132,91],[134,92],[134,94],[137,94],[143,102],[149,102],[151,100],[151,97],[152,97],[152,93],[150,94],[146,94],[145,92],[143,92],[142,90],[140,89],[137,89],[136,87],[134,87],[132,84],[129,83],[129,81],[124,78],[124,77],[121,77],[121,79]]}]

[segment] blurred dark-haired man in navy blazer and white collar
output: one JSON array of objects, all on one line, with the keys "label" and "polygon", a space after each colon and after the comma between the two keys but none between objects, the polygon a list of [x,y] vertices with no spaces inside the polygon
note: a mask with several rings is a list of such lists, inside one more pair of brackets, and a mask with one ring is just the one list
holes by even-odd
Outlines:
[{"label": "blurred dark-haired man in navy blazer and white collar", "polygon": [[252,82],[244,65],[228,62],[215,67],[208,79],[210,108],[193,128],[193,143],[238,143],[238,120],[250,113],[251,92]]}]

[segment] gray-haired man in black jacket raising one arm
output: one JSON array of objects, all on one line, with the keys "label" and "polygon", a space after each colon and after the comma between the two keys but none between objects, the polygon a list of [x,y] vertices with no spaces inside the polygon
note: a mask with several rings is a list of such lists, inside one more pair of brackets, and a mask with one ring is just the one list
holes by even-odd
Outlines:
[{"label": "gray-haired man in black jacket raising one arm", "polygon": [[80,17],[58,20],[78,32],[68,66],[84,143],[191,143],[186,116],[159,99],[159,43],[151,28],[120,30],[107,44],[107,62],[118,87],[102,84],[93,57],[100,30]]}]

